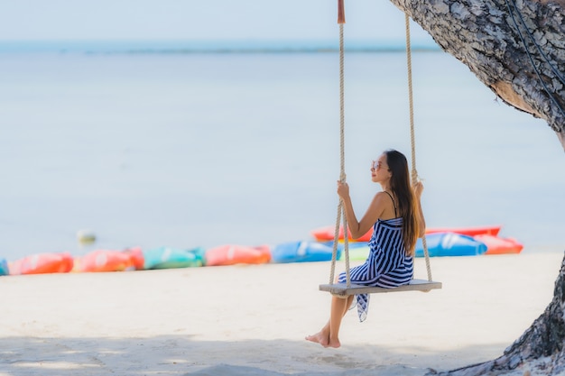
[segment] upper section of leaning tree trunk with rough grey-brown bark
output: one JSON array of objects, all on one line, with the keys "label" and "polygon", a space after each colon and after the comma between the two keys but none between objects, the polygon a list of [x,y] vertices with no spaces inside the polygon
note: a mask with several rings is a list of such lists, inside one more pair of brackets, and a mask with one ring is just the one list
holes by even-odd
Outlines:
[{"label": "upper section of leaning tree trunk with rough grey-brown bark", "polygon": [[565,0],[391,0],[565,150]]}]

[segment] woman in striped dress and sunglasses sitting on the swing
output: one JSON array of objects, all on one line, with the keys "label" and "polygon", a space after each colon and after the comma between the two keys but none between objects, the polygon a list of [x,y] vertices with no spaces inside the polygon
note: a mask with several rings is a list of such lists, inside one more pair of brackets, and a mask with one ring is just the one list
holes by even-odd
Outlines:
[{"label": "woman in striped dress and sunglasses sitting on the swing", "polygon": [[[357,239],[373,227],[369,256],[363,265],[351,269],[350,280],[357,285],[394,288],[412,280],[414,248],[426,227],[420,204],[423,186],[417,182],[411,187],[406,157],[394,150],[384,151],[372,162],[371,180],[379,183],[383,191],[375,195],[361,221],[357,221],[347,183],[338,181],[338,195],[345,207],[351,237]],[[345,272],[339,274],[338,282],[346,280]],[[339,326],[353,298],[332,297],[328,323],[306,339],[324,347],[339,347]],[[359,320],[364,321],[369,295],[359,294],[355,298]]]}]

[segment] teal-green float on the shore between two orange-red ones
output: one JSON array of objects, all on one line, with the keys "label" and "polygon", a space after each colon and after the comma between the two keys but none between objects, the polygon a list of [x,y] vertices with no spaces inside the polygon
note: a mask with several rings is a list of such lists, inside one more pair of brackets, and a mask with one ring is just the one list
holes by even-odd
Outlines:
[{"label": "teal-green float on the shore between two orange-red ones", "polygon": [[144,269],[175,269],[204,265],[204,248],[183,250],[160,247],[144,251]]}]

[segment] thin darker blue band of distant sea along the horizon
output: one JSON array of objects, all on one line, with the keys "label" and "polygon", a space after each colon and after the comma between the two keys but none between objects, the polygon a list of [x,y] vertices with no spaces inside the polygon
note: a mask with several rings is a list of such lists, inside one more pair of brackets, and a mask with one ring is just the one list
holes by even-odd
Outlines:
[{"label": "thin darker blue band of distant sea along the horizon", "polygon": [[[351,40],[350,52],[400,52],[404,40]],[[440,50],[430,40],[411,41],[412,50]],[[85,54],[185,54],[185,53],[301,53],[336,52],[338,41],[330,40],[21,40],[0,41],[0,53]]]}]

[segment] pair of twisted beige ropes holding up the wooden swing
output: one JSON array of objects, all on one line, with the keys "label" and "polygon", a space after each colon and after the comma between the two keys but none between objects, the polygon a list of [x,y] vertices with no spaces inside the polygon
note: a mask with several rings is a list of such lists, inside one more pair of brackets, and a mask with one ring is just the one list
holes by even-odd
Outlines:
[{"label": "pair of twisted beige ropes holding up the wooden swing", "polygon": [[[414,108],[413,108],[413,98],[412,98],[412,48],[411,48],[411,38],[410,38],[410,18],[408,14],[404,14],[405,26],[406,26],[406,60],[407,60],[407,70],[408,70],[408,101],[410,107],[410,141],[411,141],[411,151],[412,151],[412,186],[419,181],[418,171],[416,170],[416,142],[415,142],[415,132],[414,132]],[[340,158],[340,173],[339,181],[342,183],[346,182],[346,172],[345,172],[345,88],[344,88],[344,38],[343,38],[343,24],[345,21],[345,7],[344,0],[338,0],[338,24],[339,24],[339,158]],[[331,257],[331,268],[329,272],[329,284],[334,283],[335,270],[336,270],[336,260],[338,255],[338,239],[339,239],[339,227],[340,222],[343,222],[343,232],[344,232],[344,252],[346,259],[346,276],[347,283],[346,287],[349,289],[351,287],[351,277],[349,268],[349,246],[348,246],[348,230],[347,230],[347,218],[345,212],[345,206],[343,205],[343,200],[339,199],[338,204],[338,216],[336,217],[336,228],[334,232],[334,243],[333,252]],[[426,260],[426,270],[428,272],[428,281],[432,282],[431,279],[431,265],[430,265],[430,254],[428,252],[428,245],[426,243],[425,235],[421,238],[423,245],[424,257]],[[342,298],[346,298],[340,296]]]}]

